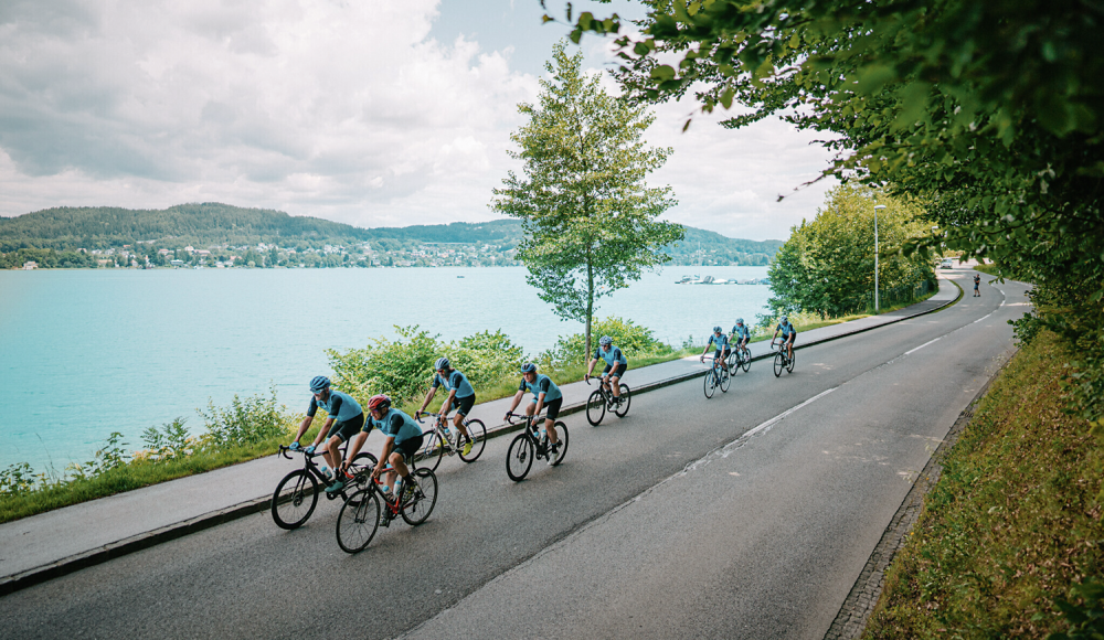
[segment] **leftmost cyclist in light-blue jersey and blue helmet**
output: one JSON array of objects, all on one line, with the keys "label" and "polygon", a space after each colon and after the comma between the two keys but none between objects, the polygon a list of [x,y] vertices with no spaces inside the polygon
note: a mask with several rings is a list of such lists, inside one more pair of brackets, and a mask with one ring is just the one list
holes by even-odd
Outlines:
[{"label": "leftmost cyclist in light-blue jersey and blue helmet", "polygon": [[[335,470],[335,479],[326,488],[327,493],[336,493],[344,488],[344,476],[339,473],[342,469],[341,450],[338,446],[357,435],[364,427],[364,410],[360,408],[360,403],[352,396],[336,388],[330,388],[330,378],[325,375],[315,376],[310,381],[310,406],[307,407],[307,417],[299,424],[299,433],[295,435],[295,440],[289,447],[293,451],[299,450],[299,438],[310,428],[310,423],[315,420],[318,407],[326,409],[327,417],[322,428],[318,430],[318,436],[314,444],[307,447],[308,454],[314,454],[315,449],[326,440],[322,449],[322,459]],[[371,430],[371,427],[369,427]],[[349,457],[352,459],[352,456]],[[329,478],[329,472],[322,468],[322,474]]]}]

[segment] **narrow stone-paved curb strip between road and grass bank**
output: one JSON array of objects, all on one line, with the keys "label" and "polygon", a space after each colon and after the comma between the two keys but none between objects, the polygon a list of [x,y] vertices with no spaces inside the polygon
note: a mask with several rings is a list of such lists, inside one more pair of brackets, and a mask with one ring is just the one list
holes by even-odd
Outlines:
[{"label": "narrow stone-paved curb strip between road and grass bank", "polygon": [[896,557],[898,552],[904,547],[909,532],[912,531],[912,527],[920,519],[920,513],[924,508],[924,497],[940,480],[940,476],[943,472],[943,459],[958,441],[958,436],[969,425],[970,420],[974,419],[974,410],[977,407],[977,403],[989,392],[989,385],[1005,371],[1008,363],[1012,361],[1013,355],[1016,355],[1015,351],[989,380],[986,381],[969,404],[966,405],[966,408],[958,414],[958,418],[955,419],[951,429],[947,430],[946,437],[943,438],[943,441],[936,447],[935,452],[928,458],[927,463],[924,465],[924,469],[916,477],[916,481],[913,482],[904,500],[901,501],[901,506],[898,508],[893,518],[890,519],[890,523],[885,526],[885,531],[882,532],[882,536],[879,538],[878,544],[874,545],[874,550],[870,552],[867,564],[863,565],[859,577],[854,579],[854,585],[851,586],[847,598],[840,605],[839,611],[836,614],[836,619],[832,620],[828,631],[825,632],[825,640],[856,640],[862,636],[870,616],[873,615],[878,602],[881,600],[882,591],[885,587],[885,572],[889,569],[890,564],[893,563],[893,558]]}]

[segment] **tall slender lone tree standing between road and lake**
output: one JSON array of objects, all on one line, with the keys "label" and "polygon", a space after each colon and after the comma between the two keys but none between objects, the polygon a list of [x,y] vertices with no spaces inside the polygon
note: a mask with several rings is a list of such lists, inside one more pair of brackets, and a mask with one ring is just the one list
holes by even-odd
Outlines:
[{"label": "tall slender lone tree standing between road and lake", "polygon": [[683,230],[657,220],[676,204],[670,186],[645,182],[671,153],[643,140],[655,117],[606,94],[565,46],[544,65],[552,78],[541,81],[539,104],[518,106],[529,124],[510,136],[521,148],[510,157],[524,175],[510,171],[491,206],[521,220],[527,280],[558,316],[585,323],[590,352],[595,301],[668,262],[661,249]]}]

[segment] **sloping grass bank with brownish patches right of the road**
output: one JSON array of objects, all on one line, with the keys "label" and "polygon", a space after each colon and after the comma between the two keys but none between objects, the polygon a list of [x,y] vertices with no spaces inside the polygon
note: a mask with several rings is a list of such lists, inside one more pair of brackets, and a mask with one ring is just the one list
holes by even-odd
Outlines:
[{"label": "sloping grass bank with brownish patches right of the road", "polygon": [[990,386],[887,572],[863,638],[1069,630],[1058,601],[1081,602],[1071,588],[1104,566],[1104,428],[1063,410],[1065,360],[1041,333]]}]

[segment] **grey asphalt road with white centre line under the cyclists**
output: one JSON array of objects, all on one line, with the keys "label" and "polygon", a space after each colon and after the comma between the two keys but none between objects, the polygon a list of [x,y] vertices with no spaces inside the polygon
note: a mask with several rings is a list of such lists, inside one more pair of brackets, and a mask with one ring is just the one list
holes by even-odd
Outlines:
[{"label": "grey asphalt road with white centre line under the cyclists", "polygon": [[911,480],[1011,350],[1023,287],[983,292],[800,350],[781,378],[756,362],[709,401],[694,380],[635,398],[623,420],[569,416],[564,463],[521,483],[506,476],[510,438],[491,440],[473,465],[442,465],[425,524],[396,522],[358,555],[337,546],[336,502],[294,532],[258,514],[7,596],[0,628],[820,638]]}]

